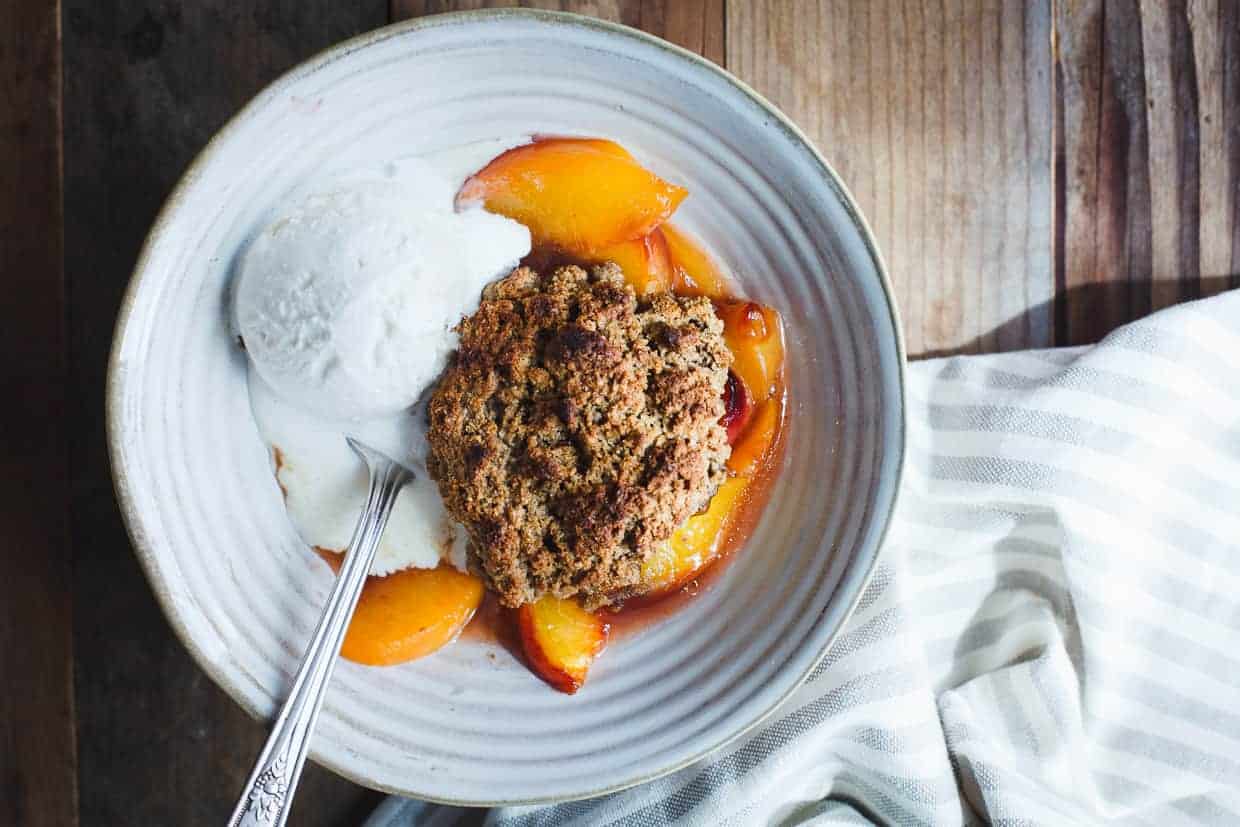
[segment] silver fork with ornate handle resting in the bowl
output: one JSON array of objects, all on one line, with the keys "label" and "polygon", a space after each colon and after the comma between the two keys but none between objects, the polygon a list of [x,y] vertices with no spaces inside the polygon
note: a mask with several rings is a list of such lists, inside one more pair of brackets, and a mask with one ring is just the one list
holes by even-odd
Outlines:
[{"label": "silver fork with ornate handle resting in the bowl", "polygon": [[348,445],[370,470],[366,510],[353,528],[345,564],[293,681],[289,698],[284,702],[267,745],[246,782],[241,801],[228,820],[229,827],[280,827],[288,820],[293,792],[306,760],[310,734],[322,705],[327,681],[336,666],[345,630],[353,616],[353,608],[371,570],[396,497],[405,482],[413,479],[412,471],[374,449],[352,438],[348,438]]}]

